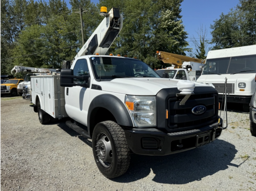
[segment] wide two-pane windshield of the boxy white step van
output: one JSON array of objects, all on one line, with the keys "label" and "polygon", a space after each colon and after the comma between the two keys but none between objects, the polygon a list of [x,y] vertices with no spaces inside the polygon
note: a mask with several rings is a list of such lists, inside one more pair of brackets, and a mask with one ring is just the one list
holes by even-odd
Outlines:
[{"label": "wide two-pane windshield of the boxy white step van", "polygon": [[256,55],[207,59],[202,75],[255,73]]}]

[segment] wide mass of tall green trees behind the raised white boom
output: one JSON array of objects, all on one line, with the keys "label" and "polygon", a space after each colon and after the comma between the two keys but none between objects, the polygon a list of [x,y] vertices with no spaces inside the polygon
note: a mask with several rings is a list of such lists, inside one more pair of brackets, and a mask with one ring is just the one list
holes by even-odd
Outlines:
[{"label": "wide mass of tall green trees behind the raised white boom", "polygon": [[[79,6],[83,7],[84,39],[102,21],[101,6],[119,7],[123,29],[109,53],[138,57],[159,68],[155,52],[185,55],[188,43],[180,5],[183,0],[1,0],[1,73],[14,65],[60,68],[82,47]],[[110,10],[110,9],[109,9]],[[9,59],[12,58],[12,59]]]}]

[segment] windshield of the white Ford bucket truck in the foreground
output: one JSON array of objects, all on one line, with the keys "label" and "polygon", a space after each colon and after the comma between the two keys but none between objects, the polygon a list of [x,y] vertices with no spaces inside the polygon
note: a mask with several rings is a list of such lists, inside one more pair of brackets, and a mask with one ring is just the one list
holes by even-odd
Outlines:
[{"label": "windshield of the white Ford bucket truck in the foreground", "polygon": [[90,61],[96,79],[112,79],[115,77],[160,78],[153,69],[140,60],[116,57],[91,57]]}]

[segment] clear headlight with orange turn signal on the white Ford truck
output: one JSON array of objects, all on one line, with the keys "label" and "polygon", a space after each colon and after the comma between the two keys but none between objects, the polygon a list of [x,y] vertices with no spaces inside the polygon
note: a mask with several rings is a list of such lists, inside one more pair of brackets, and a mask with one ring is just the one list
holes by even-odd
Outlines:
[{"label": "clear headlight with orange turn signal on the white Ford truck", "polygon": [[126,95],[128,108],[135,127],[156,126],[156,99],[155,96]]}]

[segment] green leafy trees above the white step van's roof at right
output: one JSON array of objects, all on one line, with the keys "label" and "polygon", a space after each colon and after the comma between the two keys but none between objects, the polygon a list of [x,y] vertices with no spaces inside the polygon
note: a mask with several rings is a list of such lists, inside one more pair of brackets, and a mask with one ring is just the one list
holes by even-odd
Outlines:
[{"label": "green leafy trees above the white step van's roof at right", "polygon": [[240,0],[236,9],[222,13],[211,29],[213,49],[256,44],[256,1]]}]

